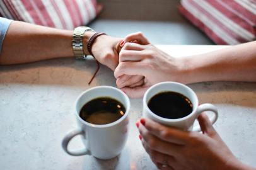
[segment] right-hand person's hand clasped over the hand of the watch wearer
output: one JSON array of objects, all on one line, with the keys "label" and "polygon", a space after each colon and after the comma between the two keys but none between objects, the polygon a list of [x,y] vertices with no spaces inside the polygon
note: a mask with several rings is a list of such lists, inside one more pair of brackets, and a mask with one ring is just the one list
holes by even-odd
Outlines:
[{"label": "right-hand person's hand clasped over the hand of the watch wearer", "polygon": [[[117,87],[121,88],[132,98],[143,96],[144,92],[153,84],[162,81],[181,81],[183,64],[165,52],[149,44],[142,33],[131,35],[127,39],[139,43],[125,42],[119,54],[119,65],[115,69]],[[123,74],[144,76],[142,86],[131,88],[132,81],[123,81]],[[130,87],[127,87],[130,86]]]}]

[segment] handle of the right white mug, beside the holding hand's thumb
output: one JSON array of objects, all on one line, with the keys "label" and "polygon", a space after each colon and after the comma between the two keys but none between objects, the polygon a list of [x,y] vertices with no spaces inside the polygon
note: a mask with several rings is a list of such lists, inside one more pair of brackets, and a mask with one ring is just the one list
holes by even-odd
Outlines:
[{"label": "handle of the right white mug, beside the holding hand's thumb", "polygon": [[[212,118],[210,118],[210,122],[213,125],[216,122],[216,120],[218,119],[217,107],[212,104],[209,104],[209,103],[199,105],[197,107],[197,116],[199,116],[204,111],[212,111],[214,113],[214,116]],[[193,131],[201,132],[201,127],[199,125],[197,125],[195,128],[193,128]]]}]

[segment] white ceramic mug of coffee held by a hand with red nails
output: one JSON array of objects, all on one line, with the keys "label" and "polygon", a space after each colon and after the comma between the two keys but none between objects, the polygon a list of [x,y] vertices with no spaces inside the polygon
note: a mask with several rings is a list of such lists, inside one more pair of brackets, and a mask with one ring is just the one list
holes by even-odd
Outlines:
[{"label": "white ceramic mug of coffee held by a hand with red nails", "polygon": [[[163,91],[173,91],[176,93],[183,94],[184,96],[189,98],[193,105],[192,113],[190,113],[189,115],[183,118],[177,118],[177,119],[163,118],[161,116],[154,114],[148,108],[149,99],[151,99],[154,95]],[[216,122],[218,118],[218,110],[216,106],[209,103],[199,105],[199,101],[195,92],[192,89],[190,89],[188,86],[185,86],[184,84],[180,84],[178,82],[160,82],[158,84],[154,84],[154,86],[151,86],[151,88],[149,88],[146,91],[143,97],[143,115],[145,117],[151,118],[152,120],[162,123],[164,125],[178,128],[180,130],[200,131],[201,128],[199,126],[194,127],[193,129],[193,125],[194,125],[195,119],[203,111],[212,111],[214,113],[214,116],[210,118],[211,123],[213,124]]]}]

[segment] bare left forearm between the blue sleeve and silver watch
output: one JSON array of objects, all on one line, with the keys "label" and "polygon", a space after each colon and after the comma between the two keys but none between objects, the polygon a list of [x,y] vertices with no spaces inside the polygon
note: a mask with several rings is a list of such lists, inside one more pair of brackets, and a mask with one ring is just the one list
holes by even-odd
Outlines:
[{"label": "bare left forearm between the blue sleeve and silver watch", "polygon": [[13,21],[4,38],[0,64],[72,57],[73,31]]}]

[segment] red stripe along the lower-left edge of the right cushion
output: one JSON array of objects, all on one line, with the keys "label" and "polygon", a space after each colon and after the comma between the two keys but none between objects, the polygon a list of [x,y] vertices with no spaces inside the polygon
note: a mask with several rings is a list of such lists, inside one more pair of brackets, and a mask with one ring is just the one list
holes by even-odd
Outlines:
[{"label": "red stripe along the lower-left edge of the right cushion", "polygon": [[221,39],[221,37],[219,37],[218,35],[216,35],[216,33],[214,33],[214,31],[209,29],[206,25],[204,25],[204,23],[202,23],[200,20],[195,18],[194,15],[192,15],[189,11],[187,11],[187,9],[183,8],[182,5],[180,5],[178,7],[178,9],[179,9],[180,13],[182,13],[183,16],[185,16],[191,23],[193,23],[200,30],[202,30],[204,33],[206,33],[206,35],[209,38],[211,38],[211,40],[213,42],[215,42],[216,44],[219,44],[219,45],[228,45],[228,43],[224,42],[224,40]]}]

